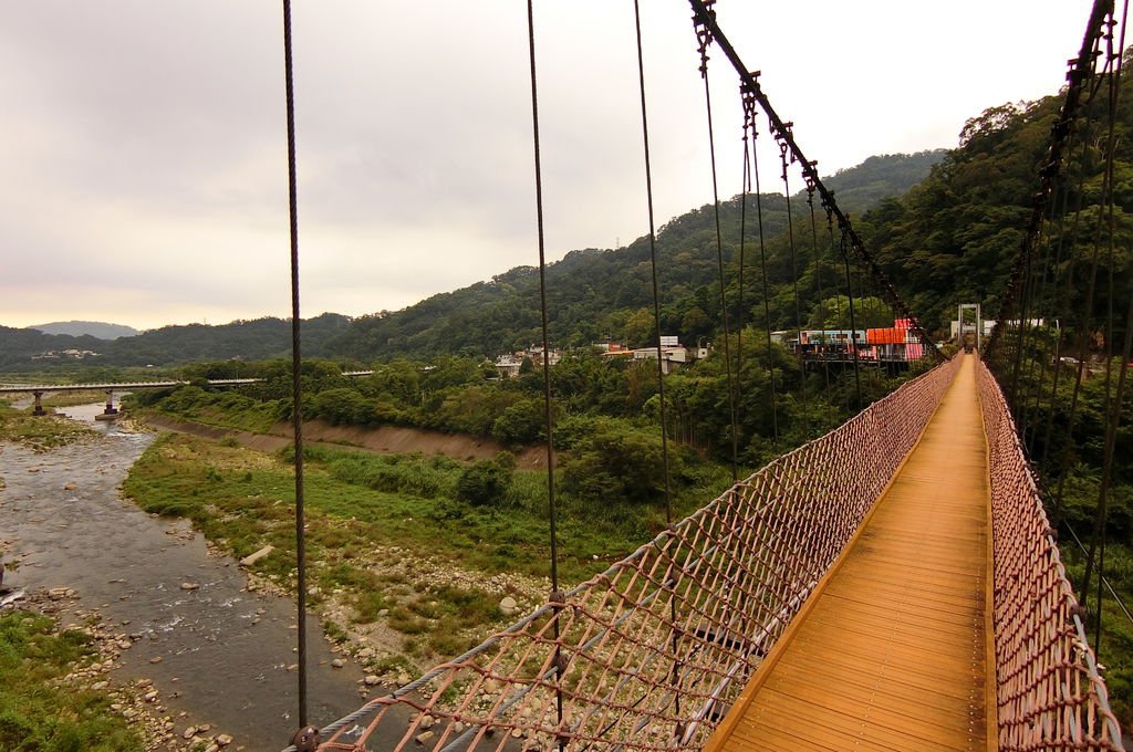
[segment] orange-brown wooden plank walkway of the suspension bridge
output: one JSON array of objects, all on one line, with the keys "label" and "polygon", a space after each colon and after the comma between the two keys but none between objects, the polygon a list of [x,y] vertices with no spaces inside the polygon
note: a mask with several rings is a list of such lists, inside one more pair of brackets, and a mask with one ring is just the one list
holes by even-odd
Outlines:
[{"label": "orange-brown wooden plank walkway of the suspension bridge", "polygon": [[920,443],[706,750],[996,749],[990,502],[973,366],[966,357]]}]

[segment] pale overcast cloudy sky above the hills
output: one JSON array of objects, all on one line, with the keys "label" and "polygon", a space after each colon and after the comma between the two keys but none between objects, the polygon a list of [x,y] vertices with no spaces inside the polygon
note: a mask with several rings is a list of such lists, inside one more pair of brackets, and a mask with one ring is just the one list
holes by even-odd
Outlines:
[{"label": "pale overcast cloudy sky above the hills", "polygon": [[[2,6],[0,324],[289,315],[280,3]],[[628,243],[648,228],[632,2],[535,6],[547,253]],[[704,91],[688,2],[641,6],[663,223],[712,199]],[[955,146],[983,109],[1056,91],[1089,6],[717,12],[828,174]],[[394,310],[536,263],[523,0],[296,0],[293,23],[305,317]],[[718,53],[709,76],[726,197],[738,80]]]}]

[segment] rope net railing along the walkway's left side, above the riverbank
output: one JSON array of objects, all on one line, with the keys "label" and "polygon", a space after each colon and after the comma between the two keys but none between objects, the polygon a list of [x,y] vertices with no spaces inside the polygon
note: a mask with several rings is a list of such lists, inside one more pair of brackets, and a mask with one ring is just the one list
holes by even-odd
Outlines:
[{"label": "rope net railing along the walkway's left side, above the riverbank", "polygon": [[699,749],[910,452],[957,362],[327,726],[318,749]]}]

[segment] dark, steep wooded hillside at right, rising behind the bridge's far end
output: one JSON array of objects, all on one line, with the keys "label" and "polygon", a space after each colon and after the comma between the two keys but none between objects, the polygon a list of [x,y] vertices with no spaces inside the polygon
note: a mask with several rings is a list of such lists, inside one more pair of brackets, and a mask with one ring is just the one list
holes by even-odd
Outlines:
[{"label": "dark, steep wooded hillside at right, rising behind the bridge's far end", "polygon": [[[1125,78],[1123,88],[1128,87]],[[1133,144],[1125,137],[1133,129],[1130,94],[1133,92],[1122,92],[1116,121],[1117,242],[1113,264],[1102,258],[1098,272],[1105,275],[1111,266],[1117,275],[1115,289],[1125,291],[1115,301],[1116,310],[1125,310],[1128,299],[1133,248]],[[960,302],[980,302],[988,316],[998,310],[999,294],[1031,213],[1031,196],[1059,103],[1059,97],[1050,96],[1005,104],[969,120],[961,133],[960,148],[949,152],[923,182],[901,198],[881,202],[863,217],[860,229],[867,246],[911,307],[930,325],[954,317]],[[1097,202],[1105,166],[1102,140],[1097,133],[1079,135],[1077,139],[1083,137],[1090,142],[1084,168],[1075,166],[1070,176],[1072,188],[1055,197],[1060,211],[1071,215],[1064,223],[1060,245],[1064,264],[1075,242],[1085,249],[1083,257],[1089,253],[1101,216]],[[1081,144],[1071,146],[1075,162],[1082,148]],[[1080,214],[1075,222],[1072,215],[1076,212]],[[1076,275],[1072,309],[1084,299],[1088,277],[1084,273]],[[1101,300],[1099,294],[1099,306]]]}]

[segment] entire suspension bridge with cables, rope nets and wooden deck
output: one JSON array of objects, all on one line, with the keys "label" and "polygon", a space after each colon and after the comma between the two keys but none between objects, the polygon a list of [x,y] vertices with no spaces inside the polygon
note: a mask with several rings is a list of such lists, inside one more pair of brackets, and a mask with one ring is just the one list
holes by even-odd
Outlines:
[{"label": "entire suspension bridge with cables, rope nets and wooden deck", "polygon": [[[850,331],[858,330],[850,284],[853,263],[869,275],[895,317],[908,322],[914,335],[910,341],[920,343],[918,351],[928,361],[923,373],[838,428],[736,479],[708,505],[671,521],[654,540],[569,590],[556,575],[554,458],[548,439],[553,589],[546,603],[468,652],[321,729],[307,725],[300,668],[304,728],[290,750],[1125,749],[1088,634],[1088,627],[1097,630],[1097,644],[1106,582],[1107,494],[1126,396],[1125,364],[1133,344],[1133,304],[1124,323],[1114,305],[1128,302],[1130,297],[1118,291],[1113,263],[1124,16],[1115,14],[1113,2],[1093,5],[1082,48],[1070,61],[1064,101],[1038,169],[1030,221],[999,298],[998,324],[981,352],[948,360],[837,207],[816,163],[795,143],[792,125],[775,112],[758,74],[743,65],[724,36],[713,5],[690,0],[706,82],[709,138],[708,51],[718,50],[740,79],[744,208],[747,191],[753,188],[761,221],[759,168],[753,149],[748,149],[761,114],[780,149],[787,196],[789,166],[801,172],[816,246],[816,197],[825,211],[832,251],[841,254],[845,268]],[[542,268],[530,2],[528,22]],[[284,1],[296,262],[290,39]],[[640,23],[638,50],[640,62]],[[642,72],[651,240],[645,91]],[[1104,164],[1097,191],[1102,208],[1090,216],[1082,213],[1081,200],[1075,204],[1071,198],[1074,181],[1085,174],[1081,161],[1088,153]],[[717,212],[718,204],[717,198]],[[1087,229],[1080,228],[1087,223]],[[717,219],[719,251],[718,228]],[[789,229],[793,259],[790,224]],[[766,306],[761,224],[759,230]],[[742,238],[741,230],[741,275]],[[656,313],[656,254],[653,265]],[[1096,284],[1099,268],[1102,276],[1108,270],[1108,289]],[[732,330],[729,307],[723,305],[722,253],[719,270],[727,399],[734,421],[736,391],[742,386],[732,364],[733,356],[739,362],[740,353],[729,349]],[[1071,294],[1075,270],[1079,284],[1089,279],[1084,304],[1081,296]],[[292,283],[298,365],[297,276]],[[546,353],[545,283],[540,290]],[[795,283],[796,306],[798,294]],[[1108,314],[1099,314],[1105,310],[1099,305],[1102,299],[1109,301]],[[1053,332],[1043,321],[1054,318],[1072,326]],[[731,322],[736,324],[742,322]],[[1105,473],[1080,603],[1057,545],[1059,520],[1048,516],[1048,509],[1057,513],[1063,488],[1045,487],[1040,472],[1059,462],[1065,470],[1067,453],[1058,456],[1053,421],[1039,421],[1040,416],[1055,413],[1071,379],[1070,403],[1057,409],[1071,425],[1079,419],[1079,392],[1087,374],[1081,361],[1076,373],[1067,373],[1073,369],[1064,367],[1062,353],[1075,348],[1073,337],[1102,328],[1107,334]],[[657,334],[664,426],[659,327]],[[855,376],[858,351],[852,342],[847,345]],[[548,366],[544,364],[551,436]],[[295,398],[298,405],[298,381]],[[772,400],[774,415],[774,381]],[[1050,409],[1043,412],[1042,404]],[[301,448],[298,408],[295,431]],[[733,425],[733,468],[734,436]],[[1041,460],[1034,456],[1039,446]],[[297,451],[300,651],[305,639],[301,458]],[[1094,587],[1098,597],[1091,616],[1088,599]]]}]

